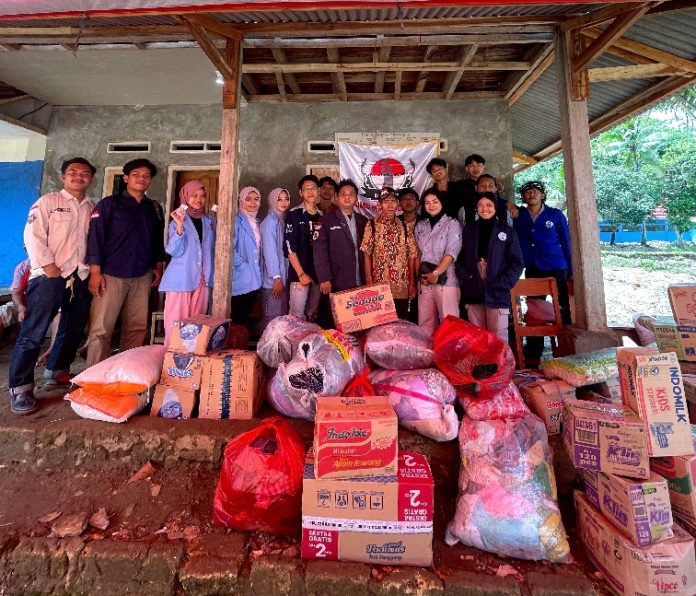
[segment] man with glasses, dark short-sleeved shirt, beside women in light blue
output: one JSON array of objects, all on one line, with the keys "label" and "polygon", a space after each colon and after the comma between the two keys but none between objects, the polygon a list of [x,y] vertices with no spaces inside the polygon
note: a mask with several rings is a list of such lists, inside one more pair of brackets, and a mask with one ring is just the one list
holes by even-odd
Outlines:
[{"label": "man with glasses, dark short-sleeved shirt, beside women in light blue", "polygon": [[302,204],[288,212],[284,252],[290,262],[290,314],[315,321],[321,297],[314,269],[312,244],[319,236],[322,213],[317,208],[319,179],[313,174],[297,184]]}]

